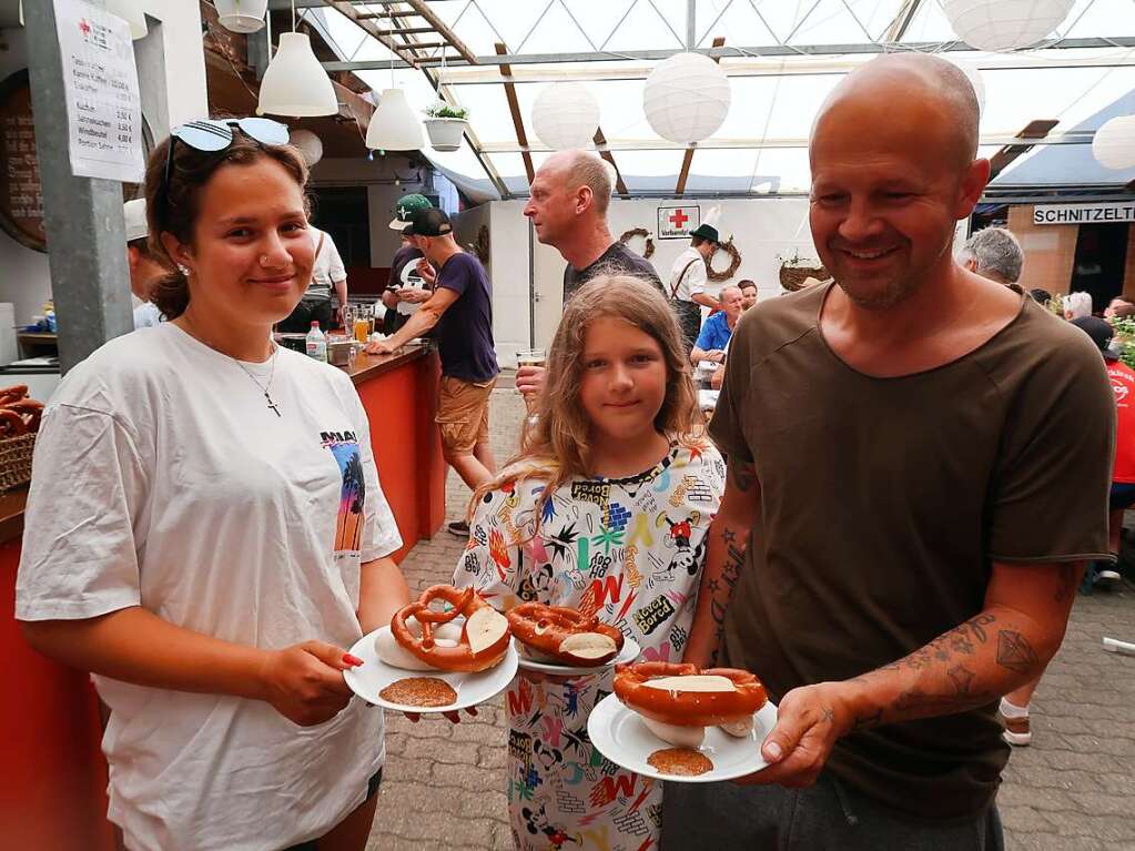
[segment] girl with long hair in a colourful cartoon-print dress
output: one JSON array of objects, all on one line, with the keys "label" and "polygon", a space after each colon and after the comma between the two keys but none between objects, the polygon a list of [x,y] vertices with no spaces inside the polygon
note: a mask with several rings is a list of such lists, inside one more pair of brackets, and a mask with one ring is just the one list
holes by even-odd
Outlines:
[{"label": "girl with long hair in a colourful cartoon-print dress", "polygon": [[[679,660],[725,467],[703,438],[676,319],[653,286],[602,277],[568,302],[538,420],[473,498],[454,584],[502,610],[538,600]],[[592,750],[612,672],[508,686],[508,810],[519,849],[656,845],[662,786]],[[647,840],[653,840],[648,842]]]}]

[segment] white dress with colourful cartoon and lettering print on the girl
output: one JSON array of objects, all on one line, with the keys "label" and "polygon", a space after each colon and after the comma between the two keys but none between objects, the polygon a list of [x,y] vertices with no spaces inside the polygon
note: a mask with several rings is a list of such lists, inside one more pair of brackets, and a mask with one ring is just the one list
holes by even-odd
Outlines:
[{"label": "white dress with colourful cartoon and lettering print on the girl", "polygon": [[[454,574],[496,608],[539,600],[617,626],[644,659],[678,662],[693,620],[706,532],[725,464],[708,443],[672,445],[627,479],[561,486],[536,529],[539,480],[485,496]],[[656,849],[662,784],[591,748],[587,718],[612,691],[612,672],[565,683],[516,676],[508,685],[508,811],[518,849]]]}]

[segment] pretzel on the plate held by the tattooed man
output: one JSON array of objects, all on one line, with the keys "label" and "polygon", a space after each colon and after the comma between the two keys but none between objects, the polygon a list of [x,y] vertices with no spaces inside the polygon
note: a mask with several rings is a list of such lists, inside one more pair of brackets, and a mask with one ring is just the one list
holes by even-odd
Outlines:
[{"label": "pretzel on the plate held by the tattooed man", "polygon": [[[667,679],[666,684],[675,688],[648,684],[651,680],[661,677]],[[676,688],[681,685],[676,681],[682,677],[699,679],[691,681],[689,689]],[[728,688],[729,685],[732,688]],[[693,688],[700,690],[696,691]],[[615,694],[639,715],[680,727],[711,727],[726,724],[751,716],[767,700],[765,686],[748,671],[738,668],[703,671],[695,665],[673,662],[616,665]]]}]

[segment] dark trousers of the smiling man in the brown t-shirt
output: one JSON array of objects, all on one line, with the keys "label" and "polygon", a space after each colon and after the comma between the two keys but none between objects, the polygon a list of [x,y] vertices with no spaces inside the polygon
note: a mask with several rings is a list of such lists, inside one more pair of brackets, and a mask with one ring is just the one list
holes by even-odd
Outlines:
[{"label": "dark trousers of the smiling man in the brown t-shirt", "polygon": [[1003,851],[997,804],[962,823],[914,821],[830,772],[814,786],[666,783],[662,851]]}]

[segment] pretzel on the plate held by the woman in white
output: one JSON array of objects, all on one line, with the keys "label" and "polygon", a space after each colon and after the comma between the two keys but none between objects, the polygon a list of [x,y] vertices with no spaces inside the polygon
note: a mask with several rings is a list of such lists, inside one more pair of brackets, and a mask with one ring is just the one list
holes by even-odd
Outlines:
[{"label": "pretzel on the plate held by the woman in white", "polygon": [[[434,600],[449,604],[448,612],[430,608]],[[449,623],[464,615],[461,640],[455,647],[442,647],[434,640],[436,624]],[[407,623],[414,618],[421,624],[421,635],[415,635]],[[508,622],[472,588],[459,591],[453,585],[431,585],[417,601],[404,606],[390,621],[395,641],[427,665],[442,671],[477,672],[490,668],[504,658],[512,635]]]}]

